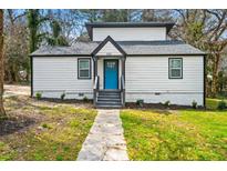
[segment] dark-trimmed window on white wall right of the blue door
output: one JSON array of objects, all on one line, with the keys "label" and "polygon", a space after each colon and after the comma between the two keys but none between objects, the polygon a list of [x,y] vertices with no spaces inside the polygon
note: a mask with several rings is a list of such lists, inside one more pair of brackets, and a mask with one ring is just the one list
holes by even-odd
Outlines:
[{"label": "dark-trimmed window on white wall right of the blue door", "polygon": [[183,59],[182,58],[169,58],[168,59],[168,76],[169,76],[169,79],[182,79],[183,78]]}]

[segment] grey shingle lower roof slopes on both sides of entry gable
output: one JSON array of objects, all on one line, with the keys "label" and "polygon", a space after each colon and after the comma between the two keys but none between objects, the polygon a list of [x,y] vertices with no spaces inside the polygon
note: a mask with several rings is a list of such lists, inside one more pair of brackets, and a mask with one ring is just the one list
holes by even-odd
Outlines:
[{"label": "grey shingle lower roof slopes on both sides of entry gable", "polygon": [[[182,41],[117,41],[128,56],[205,54]],[[41,47],[31,56],[91,56],[100,42],[76,42],[71,47]]]}]

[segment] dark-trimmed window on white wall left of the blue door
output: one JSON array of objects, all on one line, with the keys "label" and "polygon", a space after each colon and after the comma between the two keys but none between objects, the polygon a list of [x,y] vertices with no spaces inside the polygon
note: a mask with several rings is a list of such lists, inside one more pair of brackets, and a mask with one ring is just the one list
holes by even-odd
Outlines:
[{"label": "dark-trimmed window on white wall left of the blue door", "polygon": [[91,79],[91,62],[90,59],[78,60],[78,78]]}]

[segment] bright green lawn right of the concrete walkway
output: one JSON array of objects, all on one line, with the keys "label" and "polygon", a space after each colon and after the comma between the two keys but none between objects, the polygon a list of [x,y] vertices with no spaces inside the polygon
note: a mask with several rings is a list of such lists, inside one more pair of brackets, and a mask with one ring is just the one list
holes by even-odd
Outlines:
[{"label": "bright green lawn right of the concrete walkway", "polygon": [[131,160],[227,160],[227,111],[122,110]]}]

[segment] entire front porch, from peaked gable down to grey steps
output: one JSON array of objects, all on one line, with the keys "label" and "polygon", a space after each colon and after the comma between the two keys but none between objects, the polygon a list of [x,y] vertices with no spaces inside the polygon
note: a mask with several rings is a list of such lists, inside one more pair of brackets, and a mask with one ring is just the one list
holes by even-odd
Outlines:
[{"label": "entire front porch, from peaked gable down to grey steps", "polygon": [[126,53],[107,37],[93,51],[93,102],[97,108],[125,105]]}]

